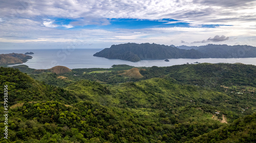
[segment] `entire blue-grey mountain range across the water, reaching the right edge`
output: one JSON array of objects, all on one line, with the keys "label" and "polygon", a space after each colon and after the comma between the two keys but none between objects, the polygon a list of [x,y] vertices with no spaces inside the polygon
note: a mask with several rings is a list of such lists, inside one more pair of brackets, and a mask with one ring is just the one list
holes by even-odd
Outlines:
[{"label": "entire blue-grey mountain range across the water, reaching the right edge", "polygon": [[[185,48],[185,49],[181,49]],[[161,59],[200,59],[200,58],[255,58],[256,47],[247,45],[214,45],[208,44],[205,46],[166,46],[150,43],[126,43],[112,45],[110,48],[105,48],[94,56],[99,56],[107,59],[120,59],[131,62],[140,60],[161,60]]]}]

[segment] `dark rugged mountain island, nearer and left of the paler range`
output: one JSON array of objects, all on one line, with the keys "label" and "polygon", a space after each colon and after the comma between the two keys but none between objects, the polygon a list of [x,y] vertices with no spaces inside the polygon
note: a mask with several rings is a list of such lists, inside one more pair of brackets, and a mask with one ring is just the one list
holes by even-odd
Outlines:
[{"label": "dark rugged mountain island, nearer and left of the paler range", "polygon": [[138,62],[140,60],[164,60],[172,58],[198,59],[202,58],[202,53],[194,49],[184,50],[154,43],[126,43],[112,45],[110,48],[105,48],[102,51],[95,53],[93,56]]}]

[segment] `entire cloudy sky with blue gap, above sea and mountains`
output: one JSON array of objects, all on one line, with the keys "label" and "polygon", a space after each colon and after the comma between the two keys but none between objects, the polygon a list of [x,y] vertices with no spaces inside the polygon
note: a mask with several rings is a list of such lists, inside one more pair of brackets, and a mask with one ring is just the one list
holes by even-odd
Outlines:
[{"label": "entire cloudy sky with blue gap, above sea and mountains", "polygon": [[256,1],[0,0],[0,50],[256,46]]}]

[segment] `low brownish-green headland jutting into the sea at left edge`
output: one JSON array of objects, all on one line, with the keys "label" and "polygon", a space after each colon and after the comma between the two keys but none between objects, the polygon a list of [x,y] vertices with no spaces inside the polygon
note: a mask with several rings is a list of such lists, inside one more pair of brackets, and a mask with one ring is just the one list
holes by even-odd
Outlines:
[{"label": "low brownish-green headland jutting into the sea at left edge", "polygon": [[22,53],[0,54],[0,65],[22,64],[32,59],[32,56]]}]

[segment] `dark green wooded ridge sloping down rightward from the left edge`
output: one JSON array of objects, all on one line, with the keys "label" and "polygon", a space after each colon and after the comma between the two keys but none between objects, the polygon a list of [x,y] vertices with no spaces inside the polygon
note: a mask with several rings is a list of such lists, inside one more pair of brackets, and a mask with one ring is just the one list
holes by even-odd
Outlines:
[{"label": "dark green wooded ridge sloping down rightward from the left edge", "polygon": [[[27,101],[63,101],[63,103],[75,103],[75,95],[71,95],[69,91],[52,85],[42,84],[34,80],[25,73],[17,69],[0,67],[0,85],[8,85],[9,104]],[[4,93],[4,88],[0,88],[0,92]],[[4,101],[4,97],[0,97]]]}]

